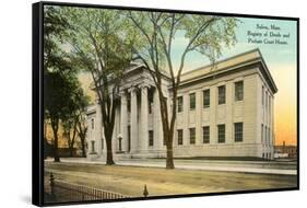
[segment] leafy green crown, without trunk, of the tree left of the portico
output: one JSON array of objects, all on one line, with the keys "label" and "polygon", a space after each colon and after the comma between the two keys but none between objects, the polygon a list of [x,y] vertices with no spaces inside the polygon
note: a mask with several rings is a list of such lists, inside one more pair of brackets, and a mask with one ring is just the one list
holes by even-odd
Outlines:
[{"label": "leafy green crown, without trunk, of the tree left of the portico", "polygon": [[79,8],[63,8],[61,12],[71,26],[68,42],[76,66],[93,73],[98,84],[110,79],[119,84],[130,65],[133,44],[122,12]]}]

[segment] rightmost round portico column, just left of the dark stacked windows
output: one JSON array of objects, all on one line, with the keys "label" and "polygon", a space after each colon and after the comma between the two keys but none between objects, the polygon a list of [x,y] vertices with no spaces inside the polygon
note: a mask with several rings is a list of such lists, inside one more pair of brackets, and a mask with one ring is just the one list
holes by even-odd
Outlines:
[{"label": "rightmost round portico column, just left of the dark stacked windows", "polygon": [[141,151],[146,151],[149,147],[149,95],[147,86],[143,86],[141,91]]}]

